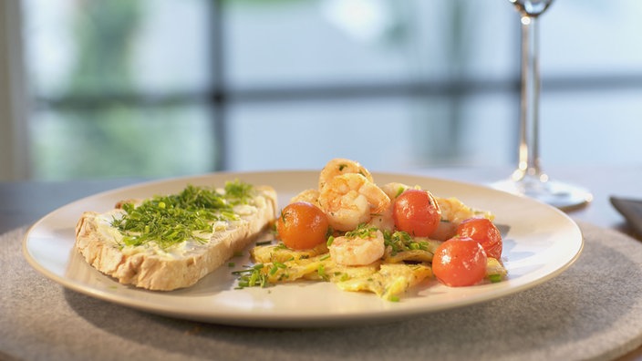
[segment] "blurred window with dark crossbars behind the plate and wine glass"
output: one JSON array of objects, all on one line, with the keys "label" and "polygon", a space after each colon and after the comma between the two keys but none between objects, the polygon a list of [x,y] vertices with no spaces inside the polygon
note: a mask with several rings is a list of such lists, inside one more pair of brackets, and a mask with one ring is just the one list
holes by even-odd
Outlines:
[{"label": "blurred window with dark crossbars behind the plate and wine glass", "polygon": [[[546,166],[642,163],[642,2],[540,18]],[[507,0],[0,0],[0,180],[512,167]]]}]

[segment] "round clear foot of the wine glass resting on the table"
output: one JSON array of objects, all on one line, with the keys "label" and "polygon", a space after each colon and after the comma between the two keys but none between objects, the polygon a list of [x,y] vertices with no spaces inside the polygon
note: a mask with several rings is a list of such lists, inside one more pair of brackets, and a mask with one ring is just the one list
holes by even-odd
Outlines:
[{"label": "round clear foot of the wine glass resting on the table", "polygon": [[543,201],[564,211],[582,207],[593,201],[590,191],[558,180],[542,181],[526,177],[523,180],[497,181],[492,183],[491,187]]}]

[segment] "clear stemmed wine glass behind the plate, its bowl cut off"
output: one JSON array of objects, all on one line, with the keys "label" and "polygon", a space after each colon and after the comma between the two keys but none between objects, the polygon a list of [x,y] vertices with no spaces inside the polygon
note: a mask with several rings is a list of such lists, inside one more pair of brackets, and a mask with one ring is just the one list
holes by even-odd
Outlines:
[{"label": "clear stemmed wine glass behind the plate, its bowl cut off", "polygon": [[550,180],[539,157],[539,49],[537,19],[553,0],[509,0],[520,13],[522,23],[522,88],[520,144],[517,169],[508,180],[492,184],[502,191],[532,197],[560,209],[570,209],[592,200],[584,188]]}]

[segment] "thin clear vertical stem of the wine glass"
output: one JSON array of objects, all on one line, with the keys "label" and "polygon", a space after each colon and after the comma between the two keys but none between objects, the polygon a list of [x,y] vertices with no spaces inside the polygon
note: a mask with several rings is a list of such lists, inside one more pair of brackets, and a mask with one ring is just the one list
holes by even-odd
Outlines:
[{"label": "thin clear vertical stem of the wine glass", "polygon": [[525,177],[547,180],[539,157],[539,49],[537,17],[522,15],[522,88],[518,169],[513,180]]}]

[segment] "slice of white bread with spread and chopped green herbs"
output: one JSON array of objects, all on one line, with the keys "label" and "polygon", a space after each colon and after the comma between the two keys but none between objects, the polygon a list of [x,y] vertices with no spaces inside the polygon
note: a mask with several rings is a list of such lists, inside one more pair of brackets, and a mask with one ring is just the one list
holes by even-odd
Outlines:
[{"label": "slice of white bread with spread and chopped green herbs", "polygon": [[240,180],[85,211],[75,248],[121,284],[170,291],[196,284],[274,222],[276,192]]}]

